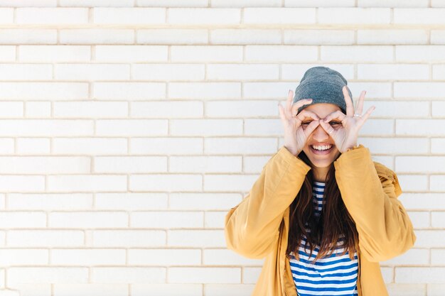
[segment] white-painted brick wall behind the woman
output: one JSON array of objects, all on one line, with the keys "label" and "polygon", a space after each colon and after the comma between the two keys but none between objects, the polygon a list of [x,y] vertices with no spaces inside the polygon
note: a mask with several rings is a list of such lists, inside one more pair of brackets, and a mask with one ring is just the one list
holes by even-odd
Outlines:
[{"label": "white-painted brick wall behind the woman", "polygon": [[1,0],[0,296],[247,296],[225,213],[325,65],[417,234],[390,296],[445,289],[444,0]]}]

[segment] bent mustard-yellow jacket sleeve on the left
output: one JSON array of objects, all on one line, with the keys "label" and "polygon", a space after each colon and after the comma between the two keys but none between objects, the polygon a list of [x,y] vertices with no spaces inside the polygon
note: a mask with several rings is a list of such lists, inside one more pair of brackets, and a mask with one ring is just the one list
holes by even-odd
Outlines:
[{"label": "bent mustard-yellow jacket sleeve on the left", "polygon": [[279,226],[309,165],[284,146],[264,165],[245,199],[225,216],[227,248],[247,258],[264,258],[278,243]]}]

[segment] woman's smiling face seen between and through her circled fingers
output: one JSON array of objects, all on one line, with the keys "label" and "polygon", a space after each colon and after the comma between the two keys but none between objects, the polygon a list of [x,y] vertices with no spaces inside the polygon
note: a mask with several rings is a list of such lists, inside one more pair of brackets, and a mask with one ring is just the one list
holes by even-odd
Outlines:
[{"label": "woman's smiling face seen between and through her circled fingers", "polygon": [[[325,119],[333,111],[341,110],[337,105],[325,103],[313,104],[305,109],[315,113],[320,119]],[[306,128],[312,120],[311,118],[304,119],[301,124],[302,128]],[[343,128],[339,119],[331,120],[330,124],[335,129]],[[326,133],[321,125],[317,126],[309,135],[303,151],[315,168],[328,168],[340,155],[340,151],[338,151],[333,138]]]}]

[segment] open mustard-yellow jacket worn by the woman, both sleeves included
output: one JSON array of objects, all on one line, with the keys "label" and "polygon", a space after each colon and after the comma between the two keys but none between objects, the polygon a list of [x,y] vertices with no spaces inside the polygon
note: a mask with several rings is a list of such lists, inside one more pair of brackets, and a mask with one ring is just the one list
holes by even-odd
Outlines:
[{"label": "open mustard-yellow jacket worn by the woman, both sleeves included", "polygon": [[[398,256],[416,236],[395,172],[372,162],[362,145],[334,162],[341,197],[358,231],[358,294],[387,296],[379,261]],[[252,296],[296,296],[289,259],[289,205],[311,168],[284,146],[272,155],[247,197],[225,216],[227,247],[247,258],[264,258]]]}]

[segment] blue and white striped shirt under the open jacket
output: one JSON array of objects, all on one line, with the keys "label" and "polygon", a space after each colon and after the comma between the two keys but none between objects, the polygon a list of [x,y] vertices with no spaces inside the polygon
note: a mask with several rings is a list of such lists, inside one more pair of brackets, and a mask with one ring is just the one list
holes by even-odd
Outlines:
[{"label": "blue and white striped shirt under the open jacket", "polygon": [[[319,217],[323,208],[323,191],[325,183],[314,182],[313,185],[313,203],[315,216]],[[292,275],[296,290],[299,296],[309,295],[358,295],[358,258],[354,253],[354,259],[351,261],[349,253],[341,255],[344,248],[343,241],[338,241],[335,251],[329,256],[320,258],[315,264],[311,263],[317,256],[318,246],[314,248],[311,256],[311,250],[304,248],[306,236],[303,236],[299,246],[299,256],[296,258],[291,252],[289,263],[291,265]],[[310,257],[310,258],[309,258]]]}]

